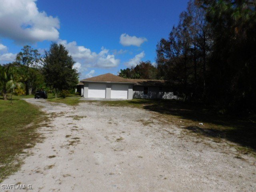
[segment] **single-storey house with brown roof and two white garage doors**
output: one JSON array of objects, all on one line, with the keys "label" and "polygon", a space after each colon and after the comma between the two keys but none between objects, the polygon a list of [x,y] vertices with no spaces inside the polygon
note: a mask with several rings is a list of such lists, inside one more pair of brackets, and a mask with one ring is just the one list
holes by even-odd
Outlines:
[{"label": "single-storey house with brown roof and two white garage doors", "polygon": [[175,86],[170,86],[169,81],[126,79],[110,73],[80,80],[77,90],[84,98],[178,98]]}]

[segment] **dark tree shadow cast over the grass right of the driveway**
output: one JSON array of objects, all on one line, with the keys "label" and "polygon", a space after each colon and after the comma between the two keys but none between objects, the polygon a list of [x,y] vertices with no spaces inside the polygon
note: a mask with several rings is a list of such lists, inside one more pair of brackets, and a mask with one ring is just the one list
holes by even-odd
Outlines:
[{"label": "dark tree shadow cast over the grass right of the driveway", "polygon": [[[214,138],[226,138],[256,151],[256,122],[248,118],[224,116],[205,108],[202,104],[184,103],[175,100],[131,100],[132,105],[170,115],[169,118],[184,119],[186,130]],[[203,122],[204,126],[199,126]]]}]

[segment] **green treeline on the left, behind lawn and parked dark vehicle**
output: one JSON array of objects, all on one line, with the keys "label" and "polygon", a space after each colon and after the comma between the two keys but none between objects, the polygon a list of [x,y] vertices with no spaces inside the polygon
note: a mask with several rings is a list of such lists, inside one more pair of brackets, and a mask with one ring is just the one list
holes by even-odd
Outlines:
[{"label": "green treeline on the left, behind lawn and parked dark vehicle", "polygon": [[74,89],[78,83],[75,62],[62,44],[52,43],[41,56],[38,50],[24,46],[9,64],[0,65],[0,89],[6,99],[8,92],[31,95],[36,90],[54,91]]}]

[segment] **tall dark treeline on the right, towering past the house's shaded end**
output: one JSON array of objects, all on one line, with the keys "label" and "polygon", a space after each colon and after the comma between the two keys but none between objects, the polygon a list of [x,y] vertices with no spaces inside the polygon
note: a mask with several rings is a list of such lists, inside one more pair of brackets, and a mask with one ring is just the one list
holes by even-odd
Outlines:
[{"label": "tall dark treeline on the right, towering past the house's shaded end", "polygon": [[232,112],[255,111],[255,9],[255,0],[191,0],[168,38],[157,44],[154,77],[180,82],[193,100]]}]

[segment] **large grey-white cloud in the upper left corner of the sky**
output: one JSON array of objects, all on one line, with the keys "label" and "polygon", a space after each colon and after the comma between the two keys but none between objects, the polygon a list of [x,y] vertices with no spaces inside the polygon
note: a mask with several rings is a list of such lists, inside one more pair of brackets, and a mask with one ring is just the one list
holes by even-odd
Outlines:
[{"label": "large grey-white cloud in the upper left corner of the sky", "polygon": [[58,40],[58,18],[39,12],[36,0],[0,0],[0,36],[16,43]]}]

